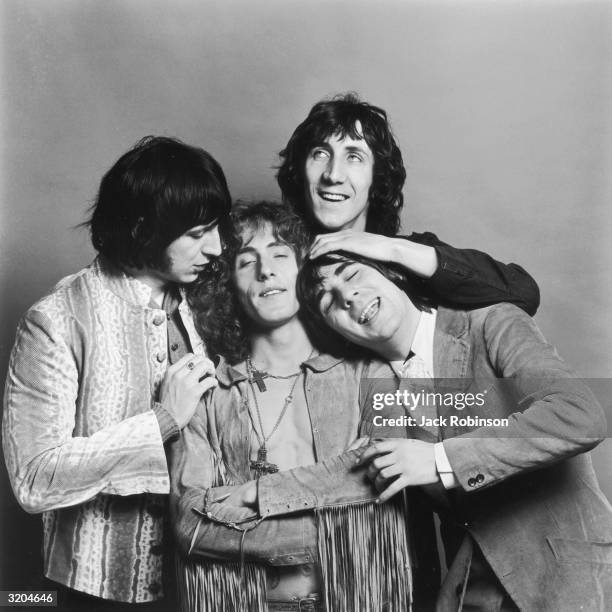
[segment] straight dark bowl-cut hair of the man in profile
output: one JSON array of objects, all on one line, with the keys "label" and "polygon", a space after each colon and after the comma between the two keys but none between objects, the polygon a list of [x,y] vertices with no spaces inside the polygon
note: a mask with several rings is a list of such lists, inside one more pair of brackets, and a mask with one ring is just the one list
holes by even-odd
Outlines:
[{"label": "straight dark bowl-cut hair of the man in profile", "polygon": [[204,149],[146,136],[102,178],[88,226],[99,253],[119,267],[161,268],[166,247],[196,225],[224,232],[231,198]]}]

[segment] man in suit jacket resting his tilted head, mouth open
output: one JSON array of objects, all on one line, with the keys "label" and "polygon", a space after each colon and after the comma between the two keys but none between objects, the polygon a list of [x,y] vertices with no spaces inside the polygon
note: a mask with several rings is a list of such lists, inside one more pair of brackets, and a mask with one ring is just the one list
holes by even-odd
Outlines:
[{"label": "man in suit jacket resting his tilted head, mouth open", "polygon": [[[426,436],[408,424],[398,429],[406,439],[377,441],[359,461],[381,502],[406,487],[438,487],[430,503],[448,574],[436,609],[609,609],[612,507],[587,453],[605,436],[605,416],[533,320],[510,304],[435,308],[397,269],[342,254],[308,262],[299,285],[313,329],[328,326],[325,336],[377,353],[400,383],[428,381],[439,394],[484,389],[483,404],[458,413],[438,403]],[[454,425],[457,414],[471,419]],[[311,491],[325,492],[330,479],[318,476]],[[266,488],[281,484],[274,475]],[[260,487],[260,507],[262,496]]]}]

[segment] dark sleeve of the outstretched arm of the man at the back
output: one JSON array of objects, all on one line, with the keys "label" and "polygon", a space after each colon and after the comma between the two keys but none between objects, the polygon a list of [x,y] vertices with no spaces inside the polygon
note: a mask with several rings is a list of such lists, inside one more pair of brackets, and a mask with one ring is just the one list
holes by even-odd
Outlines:
[{"label": "dark sleeve of the outstretched arm of the man at the back", "polygon": [[503,264],[474,249],[456,249],[431,232],[402,236],[431,246],[438,256],[438,269],[426,281],[436,300],[453,308],[480,308],[509,302],[534,315],[540,305],[540,290],[521,266]]}]

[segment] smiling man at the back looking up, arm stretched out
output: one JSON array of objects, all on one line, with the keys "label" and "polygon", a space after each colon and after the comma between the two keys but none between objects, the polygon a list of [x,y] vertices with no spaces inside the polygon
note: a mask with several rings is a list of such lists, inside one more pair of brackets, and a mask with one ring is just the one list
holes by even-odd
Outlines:
[{"label": "smiling man at the back looking up, arm stretched out", "polygon": [[387,114],[354,94],[315,104],[280,152],[283,199],[318,234],[311,257],[343,250],[401,266],[437,302],[510,302],[534,314],[535,281],[517,264],[455,249],[430,233],[396,236],[406,170]]}]

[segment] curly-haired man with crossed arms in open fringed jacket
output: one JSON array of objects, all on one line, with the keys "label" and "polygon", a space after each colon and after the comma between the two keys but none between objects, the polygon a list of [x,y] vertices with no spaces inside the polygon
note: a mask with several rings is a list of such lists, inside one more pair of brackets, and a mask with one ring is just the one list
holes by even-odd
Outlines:
[{"label": "curly-haired man with crossed arms in open fringed jacket", "polygon": [[[225,282],[204,281],[191,298],[207,347],[226,358],[219,386],[170,447],[182,609],[343,610],[358,602],[354,609],[375,612],[387,602],[408,610],[404,515],[400,506],[375,506],[367,483],[363,504],[344,511],[335,500],[320,526],[338,536],[323,547],[327,554],[319,554],[312,514],[262,522],[242,513],[269,475],[331,459],[353,443],[365,405],[359,381],[392,372],[311,343],[296,296],[309,236],[295,213],[239,204],[232,220]],[[355,578],[373,563],[375,576]]]}]

